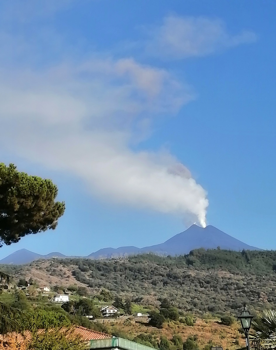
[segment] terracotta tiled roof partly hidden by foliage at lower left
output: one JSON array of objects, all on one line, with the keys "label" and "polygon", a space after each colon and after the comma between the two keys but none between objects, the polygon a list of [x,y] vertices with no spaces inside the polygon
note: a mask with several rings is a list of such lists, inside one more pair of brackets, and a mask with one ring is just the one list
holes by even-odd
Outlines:
[{"label": "terracotta tiled roof partly hidden by foliage at lower left", "polygon": [[[60,332],[65,332],[66,329],[67,329],[66,327],[62,327],[60,329]],[[45,332],[45,329],[39,329],[37,331],[37,334],[43,334],[44,332]],[[81,326],[77,326],[74,328],[73,335],[80,336],[83,339],[83,341],[112,338],[112,336],[109,334],[97,332],[95,330],[91,330],[91,329],[81,327]],[[0,334],[0,340],[7,341],[7,339],[11,338],[11,337],[16,338],[18,343],[21,343],[24,339],[26,339],[27,341],[30,341],[32,339],[32,332],[27,330],[27,331],[23,332],[23,335],[16,333],[16,332],[12,332],[12,333],[9,333],[7,335]]]}]

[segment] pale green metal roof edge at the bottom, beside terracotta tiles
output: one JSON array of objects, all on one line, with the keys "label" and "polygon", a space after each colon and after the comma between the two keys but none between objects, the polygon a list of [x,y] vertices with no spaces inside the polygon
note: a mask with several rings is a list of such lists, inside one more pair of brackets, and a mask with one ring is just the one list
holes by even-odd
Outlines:
[{"label": "pale green metal roof edge at the bottom, beside terracotta tiles", "polygon": [[131,342],[123,338],[90,340],[90,349],[153,350],[149,346]]}]

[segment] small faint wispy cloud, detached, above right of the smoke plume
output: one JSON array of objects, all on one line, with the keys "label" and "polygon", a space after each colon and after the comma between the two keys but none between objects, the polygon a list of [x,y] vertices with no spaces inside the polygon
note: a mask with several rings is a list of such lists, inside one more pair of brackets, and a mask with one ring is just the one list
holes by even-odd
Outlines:
[{"label": "small faint wispy cloud, detached, above right of the smoke plume", "polygon": [[183,59],[206,56],[256,39],[257,35],[249,30],[229,34],[221,20],[171,15],[149,31],[146,51],[154,56]]}]

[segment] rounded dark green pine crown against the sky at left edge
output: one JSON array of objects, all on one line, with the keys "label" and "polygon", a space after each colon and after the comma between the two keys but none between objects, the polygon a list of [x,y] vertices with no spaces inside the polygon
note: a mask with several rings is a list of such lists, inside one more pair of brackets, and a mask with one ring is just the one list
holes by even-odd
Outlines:
[{"label": "rounded dark green pine crown against the sky at left edge", "polygon": [[0,247],[55,229],[65,211],[64,202],[55,202],[57,194],[51,180],[0,163]]}]

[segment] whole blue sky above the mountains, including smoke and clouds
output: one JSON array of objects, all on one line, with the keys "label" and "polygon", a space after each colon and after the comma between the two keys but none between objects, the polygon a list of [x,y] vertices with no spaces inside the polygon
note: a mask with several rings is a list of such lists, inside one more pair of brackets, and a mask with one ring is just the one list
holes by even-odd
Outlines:
[{"label": "whole blue sky above the mountains, including smoke and clouds", "polygon": [[0,159],[51,178],[54,231],[2,247],[87,255],[211,224],[275,236],[275,1],[0,4]]}]

